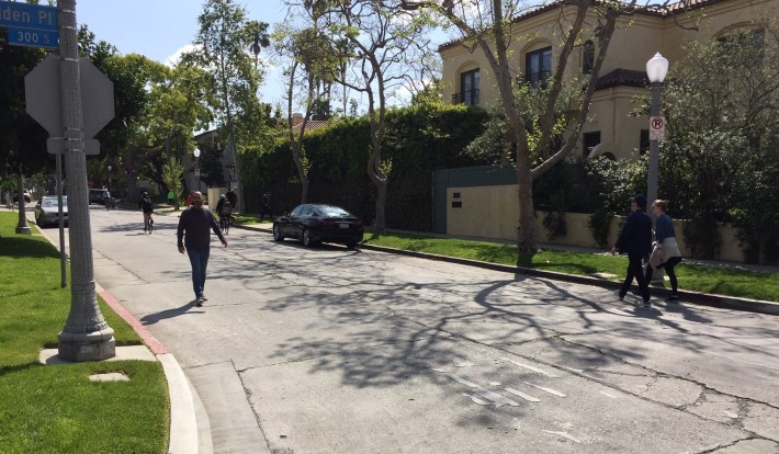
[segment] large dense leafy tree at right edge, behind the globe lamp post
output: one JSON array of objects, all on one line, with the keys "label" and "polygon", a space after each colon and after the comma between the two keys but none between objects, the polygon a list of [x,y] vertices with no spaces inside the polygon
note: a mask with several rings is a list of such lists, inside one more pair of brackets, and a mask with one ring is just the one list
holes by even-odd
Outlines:
[{"label": "large dense leafy tree at right edge, behind the globe lamp post", "polygon": [[733,222],[748,261],[779,259],[779,23],[760,21],[685,46],[664,89],[668,137],[661,193],[690,222],[685,238],[714,257],[718,224]]}]

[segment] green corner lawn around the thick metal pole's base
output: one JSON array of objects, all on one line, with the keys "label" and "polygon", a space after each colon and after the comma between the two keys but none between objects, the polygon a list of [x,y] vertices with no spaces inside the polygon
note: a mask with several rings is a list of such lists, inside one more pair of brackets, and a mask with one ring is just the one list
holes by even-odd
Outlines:
[{"label": "green corner lawn around the thick metal pole's base", "polygon": [[[34,227],[32,236],[16,235],[16,222],[0,213],[0,452],[167,452],[170,406],[158,362],[38,363],[42,349],[57,345],[70,288],[59,286],[58,251]],[[140,344],[98,299],[116,345]],[[88,379],[106,372],[131,379]]]}]

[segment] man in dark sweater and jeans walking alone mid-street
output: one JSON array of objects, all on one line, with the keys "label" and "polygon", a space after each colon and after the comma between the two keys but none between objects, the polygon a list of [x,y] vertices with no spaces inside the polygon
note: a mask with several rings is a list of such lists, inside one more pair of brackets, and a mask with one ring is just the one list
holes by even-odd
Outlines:
[{"label": "man in dark sweater and jeans walking alone mid-street", "polygon": [[227,240],[222,235],[222,229],[216,224],[214,214],[203,206],[203,194],[199,191],[194,192],[192,193],[192,206],[181,213],[176,236],[179,252],[184,253],[187,251],[190,258],[192,290],[195,294],[195,306],[197,307],[202,306],[207,299],[203,294],[203,288],[205,287],[205,271],[211,256],[210,230],[213,230],[219,237],[219,241],[226,248]]}]

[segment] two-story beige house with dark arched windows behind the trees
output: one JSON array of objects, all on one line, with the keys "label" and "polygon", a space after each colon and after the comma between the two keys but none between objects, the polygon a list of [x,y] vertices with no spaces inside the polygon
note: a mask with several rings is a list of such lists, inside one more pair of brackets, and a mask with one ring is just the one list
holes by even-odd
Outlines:
[{"label": "two-story beige house with dark arched windows behind the trees", "polygon": [[[578,149],[580,156],[606,155],[611,159],[635,159],[648,150],[648,118],[632,117],[636,97],[648,95],[646,61],[661,53],[669,63],[682,58],[681,46],[690,41],[718,39],[734,29],[754,30],[759,19],[777,16],[776,0],[687,0],[664,9],[623,16],[603,61]],[[571,19],[562,2],[526,12],[513,19],[509,56],[518,77],[537,82],[551,73],[555,53],[562,44],[561,23]],[[594,20],[588,21],[590,33]],[[586,36],[586,34],[585,34]],[[566,69],[579,78],[591,69],[595,39],[584,39]],[[444,100],[490,106],[499,100],[492,68],[476,47],[471,52],[461,42],[439,47],[443,60]],[[568,76],[566,76],[567,78]]]}]

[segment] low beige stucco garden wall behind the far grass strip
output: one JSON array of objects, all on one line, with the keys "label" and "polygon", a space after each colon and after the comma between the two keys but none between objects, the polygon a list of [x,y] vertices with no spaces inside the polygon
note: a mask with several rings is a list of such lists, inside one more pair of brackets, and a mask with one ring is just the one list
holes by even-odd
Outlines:
[{"label": "low beige stucco garden wall behind the far grass strip", "polygon": [[[455,197],[455,194],[459,194]],[[460,202],[461,207],[453,207]],[[629,209],[625,207],[625,211]],[[567,235],[563,238],[550,240],[543,227],[546,215],[538,212],[535,232],[540,242],[575,246],[584,248],[599,248],[589,231],[589,214],[566,213]],[[623,218],[614,216],[609,230],[609,245],[617,242],[620,224]],[[466,237],[493,238],[501,240],[517,239],[517,225],[519,224],[519,196],[517,185],[450,188],[447,190],[447,234]],[[690,252],[685,242],[682,222],[674,219],[677,242],[685,257]],[[744,253],[736,240],[736,229],[725,224],[720,226],[722,248],[718,259],[743,262]],[[610,249],[610,246],[609,246]]]}]

